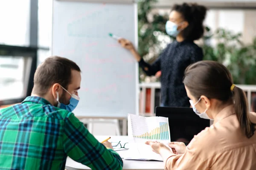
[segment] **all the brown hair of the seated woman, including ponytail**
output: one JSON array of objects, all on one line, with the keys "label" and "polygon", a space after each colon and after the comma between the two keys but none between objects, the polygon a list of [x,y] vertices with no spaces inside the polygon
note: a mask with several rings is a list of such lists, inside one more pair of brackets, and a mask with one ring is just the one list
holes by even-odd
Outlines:
[{"label": "all the brown hair of the seated woman, including ponytail", "polygon": [[236,103],[234,107],[242,132],[247,138],[253,136],[255,124],[249,119],[246,95],[239,87],[231,91],[233,79],[224,65],[215,61],[196,62],[186,68],[183,82],[196,99],[204,95],[224,103]]}]

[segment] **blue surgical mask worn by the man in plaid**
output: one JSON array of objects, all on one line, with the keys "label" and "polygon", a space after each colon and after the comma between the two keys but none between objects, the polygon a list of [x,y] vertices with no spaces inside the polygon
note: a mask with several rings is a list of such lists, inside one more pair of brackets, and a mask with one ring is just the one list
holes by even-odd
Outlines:
[{"label": "blue surgical mask worn by the man in plaid", "polygon": [[[61,88],[63,88],[61,86]],[[65,88],[63,88],[64,91],[66,91],[68,94],[70,94],[70,92],[68,92]],[[70,94],[71,95],[71,98],[70,98],[70,103],[68,105],[64,105],[63,103],[60,103],[59,102],[59,94],[58,94],[58,91],[56,92],[57,94],[57,102],[58,102],[58,108],[61,108],[61,109],[65,109],[69,112],[73,112],[76,108],[76,106],[78,105],[78,102],[79,102],[79,96],[76,96],[76,94]]]}]

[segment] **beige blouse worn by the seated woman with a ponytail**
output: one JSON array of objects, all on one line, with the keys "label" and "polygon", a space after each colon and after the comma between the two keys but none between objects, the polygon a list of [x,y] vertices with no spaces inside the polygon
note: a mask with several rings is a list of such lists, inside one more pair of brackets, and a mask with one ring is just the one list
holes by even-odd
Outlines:
[{"label": "beige blouse worn by the seated woman with a ponytail", "polygon": [[[256,123],[256,113],[250,119]],[[256,170],[256,132],[244,136],[230,105],[194,136],[184,154],[171,155],[165,165],[166,170]]]}]

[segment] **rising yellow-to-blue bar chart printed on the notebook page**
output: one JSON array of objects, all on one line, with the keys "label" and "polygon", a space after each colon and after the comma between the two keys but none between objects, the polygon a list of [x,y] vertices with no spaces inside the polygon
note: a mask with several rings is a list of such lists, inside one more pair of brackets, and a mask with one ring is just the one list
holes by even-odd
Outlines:
[{"label": "rising yellow-to-blue bar chart printed on the notebook page", "polygon": [[159,127],[151,130],[150,132],[143,133],[142,135],[135,136],[139,139],[152,139],[152,140],[169,140],[168,124],[160,122]]}]

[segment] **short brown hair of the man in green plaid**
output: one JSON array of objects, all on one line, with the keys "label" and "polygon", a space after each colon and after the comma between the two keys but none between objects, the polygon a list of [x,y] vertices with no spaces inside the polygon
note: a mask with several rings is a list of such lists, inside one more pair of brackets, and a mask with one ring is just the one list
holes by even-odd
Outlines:
[{"label": "short brown hair of the man in green plaid", "polygon": [[35,71],[32,93],[44,96],[55,83],[67,89],[71,82],[72,70],[81,71],[79,66],[70,59],[58,56],[48,57]]}]

